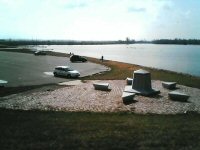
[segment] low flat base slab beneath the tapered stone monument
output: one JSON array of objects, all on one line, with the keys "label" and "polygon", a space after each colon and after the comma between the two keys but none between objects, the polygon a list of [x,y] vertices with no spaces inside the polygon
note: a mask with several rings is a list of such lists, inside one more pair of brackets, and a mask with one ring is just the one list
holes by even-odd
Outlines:
[{"label": "low flat base slab beneath the tapered stone monument", "polygon": [[150,89],[150,90],[135,90],[132,89],[132,86],[125,86],[124,92],[129,92],[129,93],[136,93],[138,95],[143,95],[143,96],[152,96],[152,95],[157,95],[160,93],[159,90],[157,89]]}]

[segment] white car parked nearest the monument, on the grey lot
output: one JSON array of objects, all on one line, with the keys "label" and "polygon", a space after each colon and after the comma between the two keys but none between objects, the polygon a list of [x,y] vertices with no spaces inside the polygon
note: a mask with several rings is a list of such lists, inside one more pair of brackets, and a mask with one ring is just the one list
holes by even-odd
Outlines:
[{"label": "white car parked nearest the monument, on the grey lot", "polygon": [[65,76],[67,78],[78,78],[80,73],[69,66],[57,66],[53,72],[54,76]]}]

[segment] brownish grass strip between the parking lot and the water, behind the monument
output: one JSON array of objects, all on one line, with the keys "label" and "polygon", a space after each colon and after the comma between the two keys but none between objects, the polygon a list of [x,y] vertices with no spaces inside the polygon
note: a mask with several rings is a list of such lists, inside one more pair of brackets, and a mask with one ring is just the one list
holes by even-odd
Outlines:
[{"label": "brownish grass strip between the parking lot and the water, behind the monument", "polygon": [[87,80],[124,80],[127,77],[133,77],[133,71],[137,69],[145,69],[151,72],[151,77],[154,80],[173,81],[178,84],[200,88],[200,77],[195,77],[187,74],[176,73],[173,71],[159,70],[155,68],[143,67],[134,64],[122,63],[117,61],[101,62],[95,58],[88,58],[89,61],[102,64],[111,68],[111,71],[97,74],[94,76],[85,77]]}]

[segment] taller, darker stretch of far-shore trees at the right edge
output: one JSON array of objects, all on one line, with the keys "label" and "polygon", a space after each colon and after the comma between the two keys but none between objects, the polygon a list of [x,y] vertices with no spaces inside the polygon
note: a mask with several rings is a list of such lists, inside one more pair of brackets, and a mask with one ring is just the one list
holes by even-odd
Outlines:
[{"label": "taller, darker stretch of far-shore trees at the right edge", "polygon": [[180,45],[200,45],[200,40],[198,39],[159,39],[153,40],[153,44],[180,44]]}]

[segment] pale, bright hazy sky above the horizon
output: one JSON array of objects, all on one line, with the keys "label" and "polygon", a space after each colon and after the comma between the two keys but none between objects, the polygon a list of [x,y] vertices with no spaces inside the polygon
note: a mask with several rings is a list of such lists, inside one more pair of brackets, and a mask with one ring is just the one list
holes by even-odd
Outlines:
[{"label": "pale, bright hazy sky above the horizon", "polygon": [[200,0],[0,0],[0,39],[200,39]]}]

